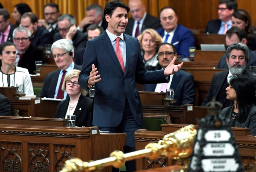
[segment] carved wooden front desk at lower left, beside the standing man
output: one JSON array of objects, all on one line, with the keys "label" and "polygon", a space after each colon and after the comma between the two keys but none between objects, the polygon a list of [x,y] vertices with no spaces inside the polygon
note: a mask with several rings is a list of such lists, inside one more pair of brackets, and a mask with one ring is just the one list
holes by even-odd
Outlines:
[{"label": "carved wooden front desk at lower left, beside the standing man", "polygon": [[[27,125],[29,118],[13,124],[13,118],[0,117],[4,121],[0,125],[1,172],[57,172],[68,159],[77,157],[88,162],[107,158],[112,151],[122,150],[126,143],[125,133],[100,134],[97,127],[33,126],[42,120],[35,117],[30,118],[30,125]],[[53,119],[48,120],[51,123]],[[60,120],[56,122],[65,123]],[[47,123],[47,118],[44,122]],[[111,167],[103,169],[111,170]]]}]

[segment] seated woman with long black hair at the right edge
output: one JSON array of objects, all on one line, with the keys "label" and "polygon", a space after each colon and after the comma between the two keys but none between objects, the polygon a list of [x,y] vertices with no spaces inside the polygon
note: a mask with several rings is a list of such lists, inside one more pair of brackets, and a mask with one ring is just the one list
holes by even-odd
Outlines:
[{"label": "seated woman with long black hair at the right edge", "polygon": [[256,135],[256,99],[253,82],[246,75],[236,75],[226,88],[231,106],[224,108],[220,114],[234,120],[234,127],[250,127],[252,135]]}]

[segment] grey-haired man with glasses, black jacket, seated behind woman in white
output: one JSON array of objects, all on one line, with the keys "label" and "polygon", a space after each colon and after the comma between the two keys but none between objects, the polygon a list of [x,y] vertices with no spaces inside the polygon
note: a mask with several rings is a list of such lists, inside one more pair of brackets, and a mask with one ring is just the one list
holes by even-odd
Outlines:
[{"label": "grey-haired man with glasses, black jacket, seated behind woman in white", "polygon": [[12,33],[12,37],[17,50],[15,66],[26,68],[29,74],[35,74],[35,62],[42,61],[44,64],[43,50],[30,44],[31,34],[25,27],[16,28]]}]

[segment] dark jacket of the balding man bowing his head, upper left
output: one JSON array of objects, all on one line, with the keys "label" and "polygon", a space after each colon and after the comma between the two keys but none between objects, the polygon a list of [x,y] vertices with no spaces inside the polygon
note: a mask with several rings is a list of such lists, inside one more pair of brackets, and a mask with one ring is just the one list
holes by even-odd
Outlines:
[{"label": "dark jacket of the balding man bowing his head, upper left", "polygon": [[32,37],[31,44],[36,47],[45,47],[45,44],[53,43],[53,35],[48,32],[44,27],[38,27],[34,36]]}]

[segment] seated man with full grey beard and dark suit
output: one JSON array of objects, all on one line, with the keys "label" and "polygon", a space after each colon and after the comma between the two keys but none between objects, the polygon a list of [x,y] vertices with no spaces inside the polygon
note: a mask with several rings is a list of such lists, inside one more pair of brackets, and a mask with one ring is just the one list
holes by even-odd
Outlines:
[{"label": "seated man with full grey beard and dark suit", "polygon": [[222,108],[230,106],[231,100],[226,98],[226,88],[229,86],[229,80],[233,75],[243,74],[248,76],[254,83],[254,88],[256,88],[256,76],[246,71],[249,48],[244,44],[234,43],[228,47],[226,56],[229,70],[214,74],[202,106],[205,106],[213,97],[216,98],[216,101],[222,103]]}]

